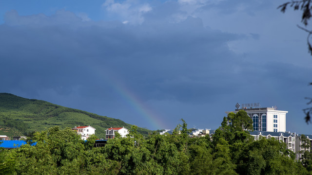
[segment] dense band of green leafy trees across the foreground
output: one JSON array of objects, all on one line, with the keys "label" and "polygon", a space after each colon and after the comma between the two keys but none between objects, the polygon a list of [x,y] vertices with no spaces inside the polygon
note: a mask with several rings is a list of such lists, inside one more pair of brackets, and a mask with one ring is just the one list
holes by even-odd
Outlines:
[{"label": "dense band of green leafy trees across the foreground", "polygon": [[[227,118],[225,118],[227,120]],[[213,138],[188,136],[182,120],[172,135],[143,137],[132,126],[127,138],[116,136],[104,147],[92,147],[69,128],[36,132],[18,149],[0,149],[0,174],[5,175],[308,175],[310,164],[275,139],[253,140],[241,127],[224,121]],[[307,155],[309,156],[309,155]],[[308,159],[309,157],[307,157]],[[311,160],[311,159],[310,159]]]}]

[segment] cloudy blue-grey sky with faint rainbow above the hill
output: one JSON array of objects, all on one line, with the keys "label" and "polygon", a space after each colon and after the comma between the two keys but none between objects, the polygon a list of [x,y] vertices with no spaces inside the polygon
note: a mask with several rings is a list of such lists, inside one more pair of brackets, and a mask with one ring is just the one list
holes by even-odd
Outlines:
[{"label": "cloudy blue-grey sky with faint rainbow above the hill", "polygon": [[312,134],[312,56],[285,0],[0,0],[0,92],[148,129],[216,129],[235,104]]}]

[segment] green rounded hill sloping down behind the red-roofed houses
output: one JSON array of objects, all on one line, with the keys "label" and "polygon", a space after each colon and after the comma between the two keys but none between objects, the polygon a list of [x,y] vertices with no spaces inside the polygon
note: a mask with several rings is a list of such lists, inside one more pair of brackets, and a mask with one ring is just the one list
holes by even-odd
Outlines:
[{"label": "green rounded hill sloping down behind the red-roofed houses", "polygon": [[[105,130],[111,126],[130,129],[131,124],[86,111],[54,105],[42,100],[26,99],[9,93],[0,93],[0,135],[22,136],[42,131],[52,126],[60,128],[90,125],[96,128],[96,136],[105,138]],[[151,130],[138,128],[148,135]]]}]

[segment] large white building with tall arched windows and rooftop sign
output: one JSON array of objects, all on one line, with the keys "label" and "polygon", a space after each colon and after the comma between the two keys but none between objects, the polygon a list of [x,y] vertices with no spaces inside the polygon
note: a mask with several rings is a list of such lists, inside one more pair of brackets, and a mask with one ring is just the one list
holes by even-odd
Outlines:
[{"label": "large white building with tall arched windows and rooftop sign", "polygon": [[286,131],[286,113],[288,113],[288,111],[277,110],[274,107],[257,107],[235,109],[235,111],[225,113],[237,113],[239,110],[245,110],[248,116],[253,120],[254,131]]}]

